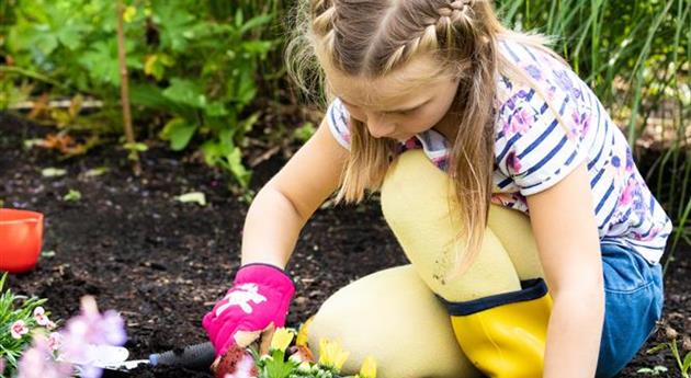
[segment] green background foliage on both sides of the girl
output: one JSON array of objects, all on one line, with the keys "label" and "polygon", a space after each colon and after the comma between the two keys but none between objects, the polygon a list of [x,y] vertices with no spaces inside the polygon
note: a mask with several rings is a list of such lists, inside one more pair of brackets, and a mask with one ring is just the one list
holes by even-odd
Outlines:
[{"label": "green background foliage on both sides of the girl", "polygon": [[[282,48],[295,0],[128,0],[131,100],[139,133],[247,185],[247,135],[285,88]],[[498,0],[507,24],[555,37],[555,49],[625,129],[639,167],[691,242],[689,0]],[[27,99],[93,98],[98,111],[52,110],[54,123],[120,128],[115,5],[111,0],[0,2],[0,108]],[[45,98],[44,98],[45,99]],[[285,102],[285,99],[282,100]],[[290,99],[288,99],[290,101]],[[262,125],[265,126],[265,125]],[[302,128],[304,136],[308,129]],[[308,135],[307,135],[308,136]]]}]

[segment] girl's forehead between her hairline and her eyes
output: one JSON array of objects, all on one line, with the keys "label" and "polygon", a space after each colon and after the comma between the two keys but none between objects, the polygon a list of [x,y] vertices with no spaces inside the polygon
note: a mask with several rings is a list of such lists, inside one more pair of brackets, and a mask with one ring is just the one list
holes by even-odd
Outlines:
[{"label": "girl's forehead between her hairline and her eyes", "polygon": [[393,110],[429,99],[434,88],[451,77],[439,69],[431,58],[416,58],[378,78],[347,75],[327,69],[329,85],[338,98],[353,105],[376,110]]}]

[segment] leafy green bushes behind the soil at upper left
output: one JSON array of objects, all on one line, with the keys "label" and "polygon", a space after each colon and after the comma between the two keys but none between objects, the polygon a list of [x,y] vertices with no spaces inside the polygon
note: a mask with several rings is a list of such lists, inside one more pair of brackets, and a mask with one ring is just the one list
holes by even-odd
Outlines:
[{"label": "leafy green bushes behind the soil at upper left", "polygon": [[[277,46],[258,37],[274,14],[250,10],[258,14],[246,14],[235,2],[133,0],[124,12],[137,119],[167,117],[160,136],[173,150],[200,135],[206,161],[229,170],[242,185],[249,172],[240,147],[259,116],[246,110],[257,94],[259,65]],[[95,96],[104,102],[99,119],[117,125],[115,2],[18,0],[11,11],[5,72],[39,82],[36,93]]]}]

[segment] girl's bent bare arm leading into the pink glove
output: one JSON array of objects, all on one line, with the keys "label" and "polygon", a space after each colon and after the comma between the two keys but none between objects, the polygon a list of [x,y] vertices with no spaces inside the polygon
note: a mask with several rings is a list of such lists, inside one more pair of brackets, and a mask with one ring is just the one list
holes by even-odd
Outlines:
[{"label": "girl's bent bare arm leading into the pink glove", "polygon": [[325,118],[250,205],[242,231],[242,265],[261,262],[285,267],[301,229],[338,187],[348,153]]}]

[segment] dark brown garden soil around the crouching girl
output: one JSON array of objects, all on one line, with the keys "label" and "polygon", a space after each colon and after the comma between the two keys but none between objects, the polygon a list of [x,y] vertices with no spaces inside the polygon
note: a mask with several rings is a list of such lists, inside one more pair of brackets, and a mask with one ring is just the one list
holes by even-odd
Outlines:
[{"label": "dark brown garden soil around the crouching girl", "polygon": [[[48,298],[55,319],[78,312],[79,298],[94,295],[101,309],[116,309],[126,320],[126,346],[134,357],[206,341],[203,314],[228,288],[239,263],[247,202],[227,188],[227,177],[207,167],[151,147],[141,157],[144,173],[131,173],[125,151],[100,147],[87,156],[60,160],[43,149],[24,149],[25,139],[48,129],[0,114],[0,199],[4,207],[45,214],[44,251],[37,267],[14,275],[18,294]],[[260,151],[261,152],[261,151]],[[256,168],[253,188],[280,169],[274,157]],[[44,177],[41,170],[63,168],[67,174]],[[84,173],[106,167],[100,176]],[[78,202],[63,201],[77,190]],[[200,191],[208,204],[182,204],[175,196]],[[665,321],[679,334],[691,333],[691,259],[688,248],[666,276]],[[305,227],[288,272],[297,291],[288,324],[297,325],[351,280],[405,264],[376,202],[325,208]],[[645,348],[662,341],[661,334]],[[645,351],[645,350],[644,350]],[[680,377],[669,352],[643,351],[621,377],[641,377],[641,367],[666,366]],[[139,368],[131,377],[211,377],[208,373]]]}]

